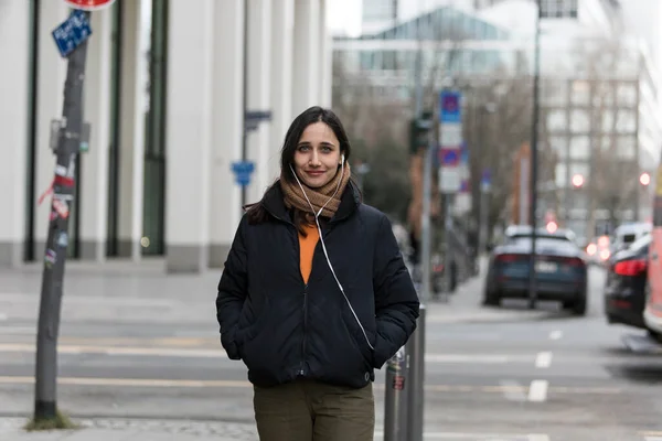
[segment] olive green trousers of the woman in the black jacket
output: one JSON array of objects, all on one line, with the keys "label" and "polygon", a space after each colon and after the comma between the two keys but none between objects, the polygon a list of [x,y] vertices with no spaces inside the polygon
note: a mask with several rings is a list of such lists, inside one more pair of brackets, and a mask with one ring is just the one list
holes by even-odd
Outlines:
[{"label": "olive green trousers of the woman in the black jacket", "polygon": [[296,380],[254,387],[260,441],[373,441],[372,383],[361,389]]}]

